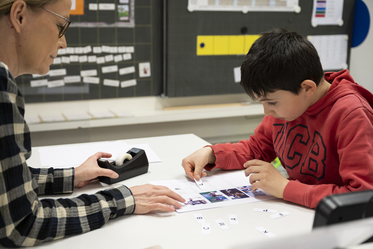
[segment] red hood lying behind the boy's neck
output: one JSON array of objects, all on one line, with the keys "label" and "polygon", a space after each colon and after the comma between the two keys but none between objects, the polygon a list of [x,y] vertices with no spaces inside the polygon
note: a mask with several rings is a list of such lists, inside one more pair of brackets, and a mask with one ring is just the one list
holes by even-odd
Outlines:
[{"label": "red hood lying behind the boy's neck", "polygon": [[307,109],[308,115],[317,115],[324,108],[346,95],[359,95],[373,107],[373,94],[357,84],[347,69],[339,72],[327,72],[325,80],[331,83],[330,89],[327,94]]}]

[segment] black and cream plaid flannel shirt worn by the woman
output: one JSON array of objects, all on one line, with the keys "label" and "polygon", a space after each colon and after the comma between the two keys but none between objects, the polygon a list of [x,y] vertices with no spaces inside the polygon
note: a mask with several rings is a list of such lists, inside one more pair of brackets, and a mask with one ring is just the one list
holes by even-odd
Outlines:
[{"label": "black and cream plaid flannel shirt worn by the woman", "polygon": [[0,62],[0,244],[33,246],[94,230],[134,212],[134,197],[125,186],[70,199],[38,199],[43,194],[71,193],[74,169],[30,168],[30,155],[24,98]]}]

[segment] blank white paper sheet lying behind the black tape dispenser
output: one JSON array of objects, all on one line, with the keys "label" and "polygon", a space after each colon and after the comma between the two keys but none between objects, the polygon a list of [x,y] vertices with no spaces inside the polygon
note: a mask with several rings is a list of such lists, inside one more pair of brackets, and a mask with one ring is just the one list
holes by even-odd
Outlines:
[{"label": "blank white paper sheet lying behind the black tape dispenser", "polygon": [[129,145],[123,141],[45,146],[38,148],[38,152],[42,167],[67,168],[79,166],[99,151],[112,154],[111,160],[115,160],[119,153],[126,152],[133,147],[145,150],[149,163],[161,162],[148,144]]}]

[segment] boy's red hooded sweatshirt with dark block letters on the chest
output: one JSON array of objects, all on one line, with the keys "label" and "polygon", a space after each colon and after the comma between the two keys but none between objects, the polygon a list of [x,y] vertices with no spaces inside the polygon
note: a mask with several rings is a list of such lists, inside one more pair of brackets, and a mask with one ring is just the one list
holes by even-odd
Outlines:
[{"label": "boy's red hooded sweatshirt with dark block letters on the chest", "polygon": [[310,208],[330,194],[373,189],[373,95],[348,70],[325,79],[328,93],[299,118],[266,116],[249,140],[211,146],[213,168],[243,169],[248,160],[279,157],[290,180],[284,200]]}]

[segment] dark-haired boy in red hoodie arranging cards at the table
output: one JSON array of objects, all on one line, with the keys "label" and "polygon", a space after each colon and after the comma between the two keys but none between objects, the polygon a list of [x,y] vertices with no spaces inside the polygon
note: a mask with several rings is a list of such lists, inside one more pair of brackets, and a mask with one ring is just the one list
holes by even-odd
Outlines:
[{"label": "dark-haired boy in red hoodie arranging cards at the table", "polygon": [[[205,176],[203,168],[245,169],[252,190],[310,208],[330,194],[373,188],[373,95],[347,70],[324,75],[307,39],[274,29],[252,45],[241,75],[265,117],[249,140],[184,158],[190,178]],[[276,157],[288,179],[270,163]]]}]

